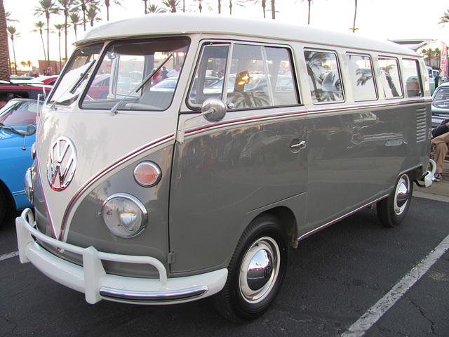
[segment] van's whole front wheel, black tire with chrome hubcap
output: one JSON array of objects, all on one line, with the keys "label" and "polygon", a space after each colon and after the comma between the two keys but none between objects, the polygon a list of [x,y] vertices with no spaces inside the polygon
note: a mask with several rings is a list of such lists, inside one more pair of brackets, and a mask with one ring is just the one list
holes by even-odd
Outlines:
[{"label": "van's whole front wheel, black tire with chrome hubcap", "polygon": [[215,308],[233,322],[259,317],[276,298],[287,263],[288,241],[283,228],[272,216],[256,218],[239,239],[225,287],[213,296]]}]

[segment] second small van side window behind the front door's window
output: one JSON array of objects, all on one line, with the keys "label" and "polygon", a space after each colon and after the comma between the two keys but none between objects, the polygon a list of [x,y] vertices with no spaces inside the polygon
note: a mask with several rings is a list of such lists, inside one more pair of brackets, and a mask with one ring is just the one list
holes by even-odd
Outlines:
[{"label": "second small van side window behind the front door's window", "polygon": [[354,54],[347,54],[346,58],[348,61],[354,100],[377,99],[371,58],[368,55]]}]

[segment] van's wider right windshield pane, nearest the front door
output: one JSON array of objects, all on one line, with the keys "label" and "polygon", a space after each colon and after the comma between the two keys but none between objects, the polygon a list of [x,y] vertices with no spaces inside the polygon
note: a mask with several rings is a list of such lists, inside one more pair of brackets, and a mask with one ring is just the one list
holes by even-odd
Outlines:
[{"label": "van's wider right windshield pane, nearest the front door", "polygon": [[187,39],[109,44],[95,66],[81,107],[114,112],[166,110],[175,93],[187,46]]}]

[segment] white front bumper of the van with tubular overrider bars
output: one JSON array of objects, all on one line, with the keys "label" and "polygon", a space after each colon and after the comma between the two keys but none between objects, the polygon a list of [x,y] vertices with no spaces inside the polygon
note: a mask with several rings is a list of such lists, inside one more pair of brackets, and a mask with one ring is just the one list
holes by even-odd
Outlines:
[{"label": "white front bumper of the van with tubular overrider bars", "polygon": [[[213,295],[220,291],[227,279],[227,269],[215,270],[189,277],[167,278],[161,261],[150,256],[129,256],[97,251],[93,246],[82,248],[61,242],[36,229],[31,209],[25,209],[15,219],[20,263],[31,262],[43,274],[60,284],[86,294],[88,303],[104,299],[134,304],[184,303]],[[70,263],[43,249],[36,239],[58,249],[83,257],[83,265]],[[107,274],[102,260],[121,263],[146,263],[156,267],[159,279],[123,277]]]}]

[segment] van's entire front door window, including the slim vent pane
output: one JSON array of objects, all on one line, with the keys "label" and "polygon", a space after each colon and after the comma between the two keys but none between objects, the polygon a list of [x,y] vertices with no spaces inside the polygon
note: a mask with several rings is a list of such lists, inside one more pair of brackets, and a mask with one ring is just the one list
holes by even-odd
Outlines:
[{"label": "van's entire front door window, including the slim vent pane", "polygon": [[298,104],[287,48],[234,44],[229,61],[230,46],[203,48],[189,95],[192,105],[209,97],[226,98],[230,109]]}]

